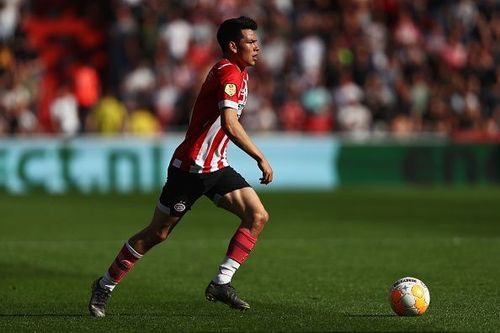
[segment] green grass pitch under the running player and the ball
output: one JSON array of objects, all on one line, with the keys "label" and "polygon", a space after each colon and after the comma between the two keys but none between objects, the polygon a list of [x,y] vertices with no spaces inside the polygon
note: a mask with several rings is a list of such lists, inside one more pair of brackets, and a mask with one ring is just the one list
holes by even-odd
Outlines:
[{"label": "green grass pitch under the running player and the ball", "polygon": [[[142,228],[152,195],[0,195],[0,331],[435,331],[500,328],[499,188],[265,192],[271,220],[233,283],[252,308],[204,299],[237,221],[202,199],[115,290],[105,318],[90,284]],[[392,282],[423,280],[431,304],[398,317]]]}]

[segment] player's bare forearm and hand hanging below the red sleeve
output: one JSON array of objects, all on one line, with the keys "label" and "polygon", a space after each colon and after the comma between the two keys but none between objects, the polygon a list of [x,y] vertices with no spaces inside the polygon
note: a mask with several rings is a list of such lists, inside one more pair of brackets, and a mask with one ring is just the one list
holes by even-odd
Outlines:
[{"label": "player's bare forearm and hand hanging below the red sleeve", "polygon": [[261,184],[269,184],[273,181],[273,169],[264,154],[257,148],[248,136],[247,132],[238,121],[237,111],[232,108],[221,110],[221,126],[229,139],[241,150],[251,156],[259,169],[262,171]]}]

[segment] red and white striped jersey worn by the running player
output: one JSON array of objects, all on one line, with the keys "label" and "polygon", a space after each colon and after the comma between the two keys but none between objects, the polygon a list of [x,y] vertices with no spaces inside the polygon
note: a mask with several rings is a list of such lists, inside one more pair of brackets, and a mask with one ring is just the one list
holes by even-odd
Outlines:
[{"label": "red and white striped jersey worn by the running player", "polygon": [[228,166],[229,138],[221,128],[221,110],[235,109],[239,118],[247,96],[247,71],[240,71],[227,59],[216,63],[201,87],[186,137],[170,164],[193,173],[214,172]]}]

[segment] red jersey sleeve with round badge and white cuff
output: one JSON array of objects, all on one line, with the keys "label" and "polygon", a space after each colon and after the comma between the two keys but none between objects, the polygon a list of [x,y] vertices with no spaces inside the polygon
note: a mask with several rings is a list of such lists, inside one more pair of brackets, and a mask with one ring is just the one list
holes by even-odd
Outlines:
[{"label": "red jersey sleeve with round badge and white cuff", "polygon": [[234,66],[224,66],[219,70],[217,101],[219,110],[232,108],[238,110],[238,97],[241,89],[241,75]]}]

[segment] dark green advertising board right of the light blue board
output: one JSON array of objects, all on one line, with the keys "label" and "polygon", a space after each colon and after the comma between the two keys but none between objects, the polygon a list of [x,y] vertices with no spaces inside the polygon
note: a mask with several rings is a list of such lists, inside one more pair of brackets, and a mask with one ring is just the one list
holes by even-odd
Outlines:
[{"label": "dark green advertising board right of the light blue board", "polygon": [[342,185],[498,184],[500,145],[343,144],[336,172]]}]

